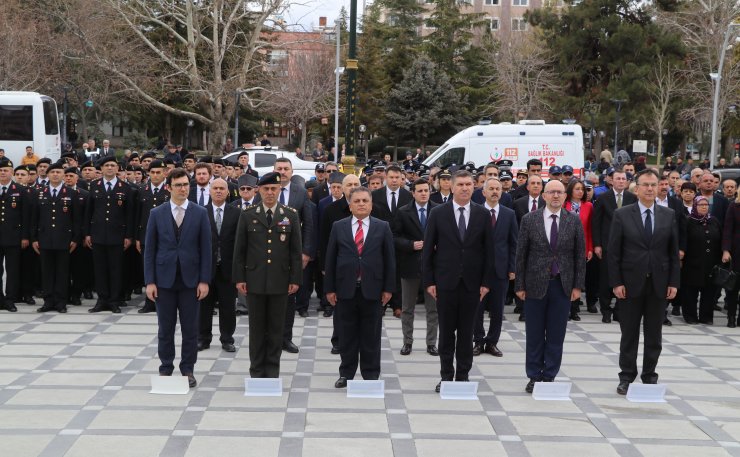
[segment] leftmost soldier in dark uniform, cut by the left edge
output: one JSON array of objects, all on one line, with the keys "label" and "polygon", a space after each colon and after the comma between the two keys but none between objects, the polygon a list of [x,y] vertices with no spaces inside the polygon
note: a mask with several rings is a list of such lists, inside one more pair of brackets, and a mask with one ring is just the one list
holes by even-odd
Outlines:
[{"label": "leftmost soldier in dark uniform, cut by the left edge", "polygon": [[0,290],[0,307],[16,312],[20,301],[21,250],[29,245],[32,200],[28,189],[14,183],[13,162],[0,158],[0,278],[5,261],[5,295]]}]

